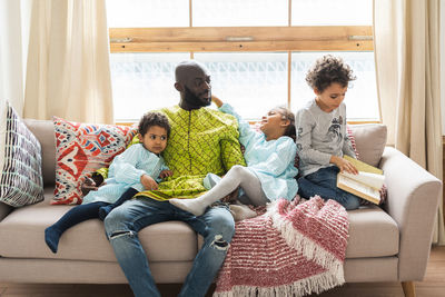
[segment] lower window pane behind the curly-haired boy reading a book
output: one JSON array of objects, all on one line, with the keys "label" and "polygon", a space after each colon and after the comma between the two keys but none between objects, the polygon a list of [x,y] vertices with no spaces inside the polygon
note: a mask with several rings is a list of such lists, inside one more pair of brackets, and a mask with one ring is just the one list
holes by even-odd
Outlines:
[{"label": "lower window pane behind the curly-haired boy reading a book", "polygon": [[339,56],[350,66],[356,80],[349,82],[345,103],[348,120],[378,120],[378,99],[373,52],[295,52],[291,57],[291,109],[297,110],[315,97],[305,78],[316,59]]}]

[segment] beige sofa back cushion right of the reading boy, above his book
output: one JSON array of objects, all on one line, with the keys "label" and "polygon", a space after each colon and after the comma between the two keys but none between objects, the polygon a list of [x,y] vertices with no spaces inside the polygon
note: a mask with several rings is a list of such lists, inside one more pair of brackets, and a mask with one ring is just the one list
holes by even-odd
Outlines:
[{"label": "beige sofa back cushion right of the reading boy, above his book", "polygon": [[386,146],[386,126],[382,123],[350,125],[358,159],[378,167]]}]

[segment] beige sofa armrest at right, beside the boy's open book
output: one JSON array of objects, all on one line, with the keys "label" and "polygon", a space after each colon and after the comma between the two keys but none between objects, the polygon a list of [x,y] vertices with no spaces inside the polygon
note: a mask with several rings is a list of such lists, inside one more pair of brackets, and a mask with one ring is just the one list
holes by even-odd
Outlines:
[{"label": "beige sofa armrest at right, beside the boy's open book", "polygon": [[442,181],[404,154],[386,147],[379,167],[388,190],[386,210],[400,232],[398,278],[422,280],[429,257]]}]

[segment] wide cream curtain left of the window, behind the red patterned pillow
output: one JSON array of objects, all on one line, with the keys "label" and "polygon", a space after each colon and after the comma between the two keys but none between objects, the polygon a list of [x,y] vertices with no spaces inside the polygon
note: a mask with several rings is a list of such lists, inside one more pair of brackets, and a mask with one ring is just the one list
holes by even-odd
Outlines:
[{"label": "wide cream curtain left of the window, behind the red patterned pillow", "polygon": [[105,0],[34,0],[23,116],[113,121]]}]

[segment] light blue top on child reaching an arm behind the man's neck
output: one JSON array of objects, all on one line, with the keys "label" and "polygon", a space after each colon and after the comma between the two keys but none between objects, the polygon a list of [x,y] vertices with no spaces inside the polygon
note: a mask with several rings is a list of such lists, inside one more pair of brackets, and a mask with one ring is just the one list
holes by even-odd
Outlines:
[{"label": "light blue top on child reaching an arm behind the man's neck", "polygon": [[230,105],[224,103],[219,110],[237,118],[239,142],[246,148],[244,158],[247,168],[258,177],[266,197],[270,201],[278,198],[294,199],[298,191],[295,179],[298,170],[294,166],[297,147],[294,140],[281,136],[267,141],[266,136],[255,131]]}]

